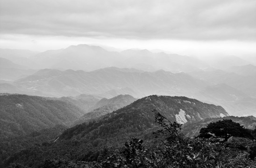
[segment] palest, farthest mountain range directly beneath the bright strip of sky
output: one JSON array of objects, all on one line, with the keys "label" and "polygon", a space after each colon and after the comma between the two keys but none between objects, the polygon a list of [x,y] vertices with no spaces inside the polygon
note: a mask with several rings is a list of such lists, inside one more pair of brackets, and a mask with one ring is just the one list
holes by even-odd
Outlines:
[{"label": "palest, farthest mountain range directly beneath the bright strip of sky", "polygon": [[[171,72],[195,71],[214,67],[227,69],[250,62],[237,56],[215,56],[199,59],[192,56],[151,52],[147,49],[106,50],[104,47],[80,44],[65,49],[33,52],[18,49],[0,49],[0,57],[28,69],[58,69],[92,71],[106,67],[135,68],[143,71],[165,70]],[[256,60],[255,58],[252,58]],[[251,63],[254,63],[251,61]]]}]

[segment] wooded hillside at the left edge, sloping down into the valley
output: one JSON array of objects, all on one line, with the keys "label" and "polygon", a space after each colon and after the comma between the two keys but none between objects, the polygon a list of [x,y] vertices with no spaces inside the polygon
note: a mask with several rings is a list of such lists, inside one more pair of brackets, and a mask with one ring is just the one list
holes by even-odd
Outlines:
[{"label": "wooded hillside at the left edge, sloping down into the valley", "polygon": [[56,125],[69,126],[84,112],[60,100],[27,95],[0,96],[1,137],[25,135]]}]

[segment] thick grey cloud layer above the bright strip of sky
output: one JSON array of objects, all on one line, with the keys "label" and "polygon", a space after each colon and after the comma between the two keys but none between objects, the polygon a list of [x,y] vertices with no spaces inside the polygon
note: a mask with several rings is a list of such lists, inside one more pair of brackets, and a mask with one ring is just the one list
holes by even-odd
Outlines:
[{"label": "thick grey cloud layer above the bright strip of sky", "polygon": [[0,33],[256,40],[255,0],[0,0]]}]

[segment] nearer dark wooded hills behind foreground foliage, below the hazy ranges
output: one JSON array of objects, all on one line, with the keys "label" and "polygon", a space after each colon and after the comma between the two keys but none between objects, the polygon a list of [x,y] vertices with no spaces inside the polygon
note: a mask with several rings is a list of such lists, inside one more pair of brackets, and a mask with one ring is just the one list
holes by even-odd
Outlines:
[{"label": "nearer dark wooded hills behind foreground foliage, below the hazy ranges", "polygon": [[97,161],[133,136],[146,145],[155,143],[158,138],[154,133],[159,129],[156,112],[183,124],[185,136],[196,136],[201,127],[221,119],[232,119],[249,129],[256,126],[253,116],[229,116],[221,106],[179,96],[136,99],[130,95],[50,98],[1,94],[0,100],[3,167],[12,163],[38,167],[46,160],[60,158]]}]

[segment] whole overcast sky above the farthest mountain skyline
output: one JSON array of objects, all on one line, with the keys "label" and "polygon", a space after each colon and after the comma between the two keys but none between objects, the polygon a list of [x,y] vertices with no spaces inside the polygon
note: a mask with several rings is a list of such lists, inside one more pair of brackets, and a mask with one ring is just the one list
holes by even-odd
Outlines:
[{"label": "whole overcast sky above the farthest mountain skyline", "polygon": [[256,0],[0,0],[0,48],[256,55]]}]

